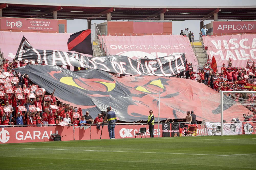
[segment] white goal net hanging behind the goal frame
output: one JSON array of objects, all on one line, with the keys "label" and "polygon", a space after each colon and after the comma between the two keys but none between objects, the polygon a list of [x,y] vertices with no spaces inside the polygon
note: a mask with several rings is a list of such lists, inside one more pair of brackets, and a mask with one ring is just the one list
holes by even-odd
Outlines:
[{"label": "white goal net hanging behind the goal frame", "polygon": [[[220,93],[210,94],[200,99],[202,125],[206,127],[207,133],[205,135],[254,133],[256,91],[220,91]],[[249,133],[246,123],[250,124]]]}]

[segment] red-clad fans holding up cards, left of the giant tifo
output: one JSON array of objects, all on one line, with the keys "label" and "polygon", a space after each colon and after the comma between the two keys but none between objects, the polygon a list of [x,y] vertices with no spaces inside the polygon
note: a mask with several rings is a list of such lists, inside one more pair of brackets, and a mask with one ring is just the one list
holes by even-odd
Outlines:
[{"label": "red-clad fans holding up cards, left of the giant tifo", "polygon": [[[63,103],[54,96],[54,91],[47,94],[45,90],[41,94],[37,90],[41,89],[38,85],[33,85],[29,75],[20,75],[14,72],[17,61],[3,60],[0,68],[0,127],[7,125],[31,125],[31,126],[84,126],[88,124],[102,124],[101,113],[93,119],[86,111],[82,114],[82,109]],[[19,63],[25,66],[25,60]],[[33,64],[32,61],[29,64]],[[34,62],[38,65],[38,61]],[[42,61],[41,65],[45,65]],[[23,89],[22,89],[23,88]],[[21,107],[23,106],[23,107]],[[77,114],[76,114],[77,113]]]}]

